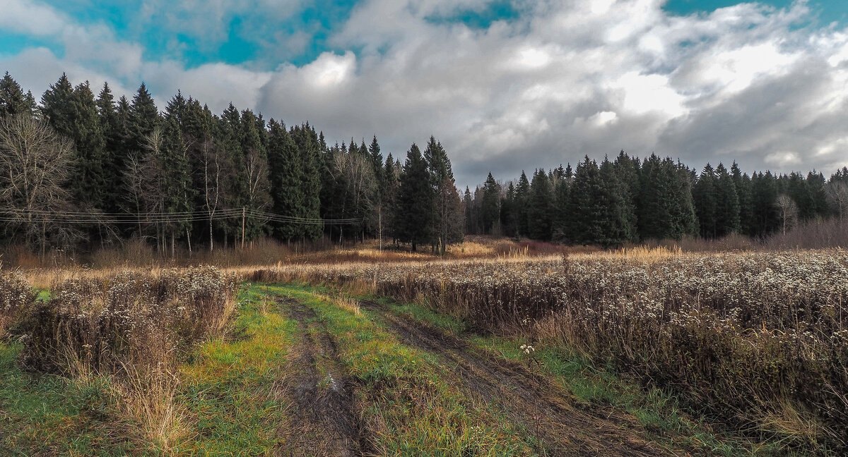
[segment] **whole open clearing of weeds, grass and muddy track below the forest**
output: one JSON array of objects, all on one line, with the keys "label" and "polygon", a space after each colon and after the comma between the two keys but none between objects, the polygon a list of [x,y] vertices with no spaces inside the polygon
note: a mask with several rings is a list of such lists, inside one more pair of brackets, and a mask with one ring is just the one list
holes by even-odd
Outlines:
[{"label": "whole open clearing of weeds, grass and muddy track below the forest", "polygon": [[3,270],[0,443],[10,455],[844,452],[845,251],[466,247],[465,259],[65,269],[49,285]]}]

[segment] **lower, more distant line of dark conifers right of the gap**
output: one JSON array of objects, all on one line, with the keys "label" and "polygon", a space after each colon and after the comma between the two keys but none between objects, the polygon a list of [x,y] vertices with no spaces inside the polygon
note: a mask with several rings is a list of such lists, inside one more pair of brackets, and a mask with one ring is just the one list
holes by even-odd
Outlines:
[{"label": "lower, more distant line of dark conifers right of the gap", "polygon": [[728,234],[764,238],[797,223],[848,215],[848,168],[823,173],[742,173],[734,162],[700,173],[656,154],[588,156],[572,169],[539,168],[499,184],[491,173],[466,188],[466,233],[505,234],[581,245]]}]

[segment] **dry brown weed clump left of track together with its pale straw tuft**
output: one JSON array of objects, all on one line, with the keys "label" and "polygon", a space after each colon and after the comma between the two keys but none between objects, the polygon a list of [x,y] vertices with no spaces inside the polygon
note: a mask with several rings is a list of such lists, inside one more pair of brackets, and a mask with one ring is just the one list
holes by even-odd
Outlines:
[{"label": "dry brown weed clump left of track together with its pale straw tuft", "polygon": [[21,363],[41,372],[110,380],[132,437],[165,454],[184,438],[179,364],[198,341],[221,336],[240,281],[215,267],[124,272],[54,284],[18,326]]}]

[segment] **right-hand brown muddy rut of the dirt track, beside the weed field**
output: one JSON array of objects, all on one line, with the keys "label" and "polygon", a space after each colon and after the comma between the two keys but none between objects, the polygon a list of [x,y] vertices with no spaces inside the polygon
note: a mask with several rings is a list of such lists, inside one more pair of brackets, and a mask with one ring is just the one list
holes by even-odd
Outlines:
[{"label": "right-hand brown muddy rut of the dirt track, beside the weed field", "polygon": [[376,311],[404,344],[438,355],[444,368],[473,397],[499,405],[510,420],[533,432],[544,443],[544,449],[539,449],[543,455],[673,455],[629,430],[633,418],[611,411],[601,416],[579,410],[571,393],[522,364],[494,360],[463,339],[399,317],[375,302],[362,302],[361,306]]}]

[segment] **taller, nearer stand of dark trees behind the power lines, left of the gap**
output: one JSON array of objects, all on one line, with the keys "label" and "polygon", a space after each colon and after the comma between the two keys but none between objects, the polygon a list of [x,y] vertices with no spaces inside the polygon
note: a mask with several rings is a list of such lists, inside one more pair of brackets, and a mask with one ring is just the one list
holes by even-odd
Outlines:
[{"label": "taller, nearer stand of dark trees behind the power lines, left of the gap", "polygon": [[351,139],[327,145],[232,104],[215,114],[177,93],[164,112],[142,84],[115,100],[63,74],[36,102],[0,80],[0,241],[48,247],[151,240],[209,250],[271,236],[293,242],[366,237],[444,245],[463,212],[444,148],[413,144],[405,163]]}]

